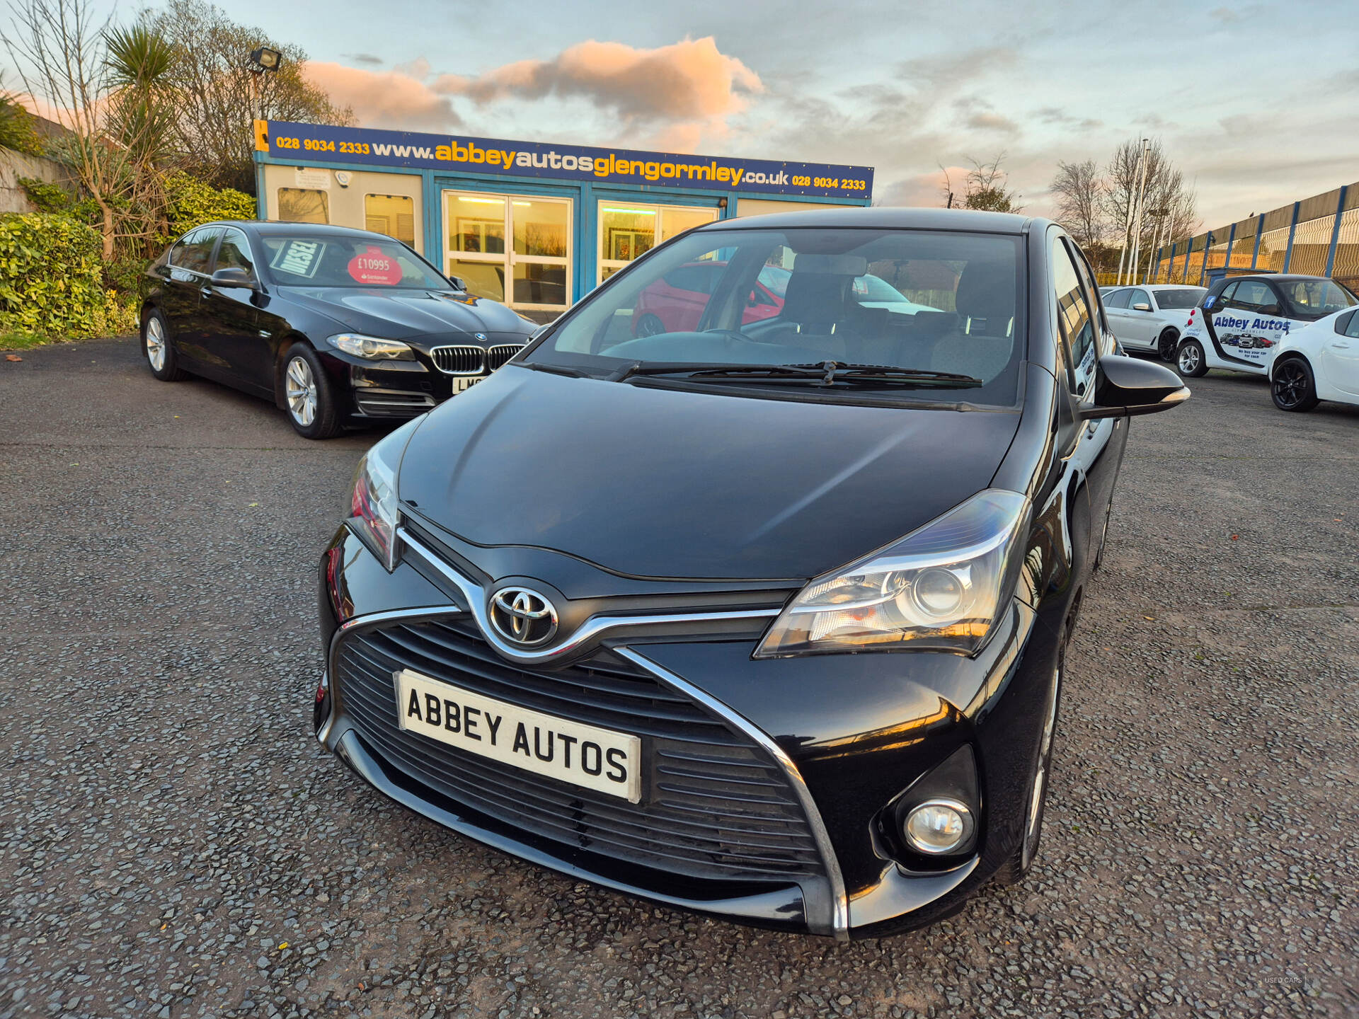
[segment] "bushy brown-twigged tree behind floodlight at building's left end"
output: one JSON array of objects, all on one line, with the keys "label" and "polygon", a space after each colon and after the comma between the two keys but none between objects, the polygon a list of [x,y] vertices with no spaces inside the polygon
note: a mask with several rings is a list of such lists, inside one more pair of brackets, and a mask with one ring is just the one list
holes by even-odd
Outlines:
[{"label": "bushy brown-twigged tree behind floodlight at building's left end", "polygon": [[[219,187],[254,193],[253,120],[352,124],[353,111],[336,107],[303,75],[306,53],[236,24],[205,0],[169,0],[145,15],[177,52],[171,73],[179,96],[177,140],[189,168]],[[284,54],[277,72],[253,73],[247,56],[257,46]]]}]

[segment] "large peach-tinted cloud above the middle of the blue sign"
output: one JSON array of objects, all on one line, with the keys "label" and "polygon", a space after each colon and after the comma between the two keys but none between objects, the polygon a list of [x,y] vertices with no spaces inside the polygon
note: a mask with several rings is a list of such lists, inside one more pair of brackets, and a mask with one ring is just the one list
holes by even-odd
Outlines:
[{"label": "large peach-tinted cloud above the middle of the blue sign", "polygon": [[520,60],[474,77],[443,75],[432,87],[478,105],[580,98],[621,118],[624,129],[655,125],[693,141],[700,130],[724,132],[727,118],[764,91],[760,76],[711,35],[655,49],[587,39],[550,60]]}]

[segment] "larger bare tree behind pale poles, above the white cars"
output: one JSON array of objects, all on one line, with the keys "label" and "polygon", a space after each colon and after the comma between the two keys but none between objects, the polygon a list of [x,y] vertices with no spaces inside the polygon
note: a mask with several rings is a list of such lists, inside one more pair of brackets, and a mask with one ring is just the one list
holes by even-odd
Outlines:
[{"label": "larger bare tree behind pale poles, above the white cars", "polygon": [[1142,251],[1139,265],[1133,266],[1137,274],[1155,258],[1155,249],[1163,239],[1190,236],[1199,227],[1195,193],[1166,156],[1161,140],[1152,139],[1147,148],[1142,231],[1140,236],[1132,235],[1128,224],[1133,220],[1137,200],[1140,152],[1140,139],[1118,145],[1109,160],[1106,187],[1101,196],[1104,215],[1112,224],[1112,232],[1116,232],[1114,247],[1125,246],[1128,251],[1139,247]]}]

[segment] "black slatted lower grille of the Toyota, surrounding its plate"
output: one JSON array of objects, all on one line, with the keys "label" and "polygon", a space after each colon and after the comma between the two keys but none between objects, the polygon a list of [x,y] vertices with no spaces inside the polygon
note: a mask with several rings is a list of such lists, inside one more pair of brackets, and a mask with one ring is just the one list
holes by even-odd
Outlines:
[{"label": "black slatted lower grille of the Toyota, surrounding its plate", "polygon": [[[641,736],[641,802],[401,731],[393,673],[402,667]],[[504,662],[470,620],[389,624],[342,636],[334,678],[345,713],[379,755],[516,829],[690,878],[787,880],[825,872],[796,793],[766,751],[607,651],[567,668],[530,671]]]}]

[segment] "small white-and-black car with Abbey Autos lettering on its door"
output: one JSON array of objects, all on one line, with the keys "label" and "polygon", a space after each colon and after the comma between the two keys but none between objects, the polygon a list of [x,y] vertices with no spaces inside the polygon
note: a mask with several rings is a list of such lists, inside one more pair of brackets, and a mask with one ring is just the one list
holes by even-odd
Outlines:
[{"label": "small white-and-black car with Abbey Autos lettering on its door", "polygon": [[1193,379],[1208,368],[1265,375],[1288,336],[1356,303],[1325,276],[1229,276],[1190,310],[1176,364]]}]

